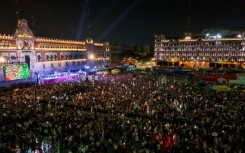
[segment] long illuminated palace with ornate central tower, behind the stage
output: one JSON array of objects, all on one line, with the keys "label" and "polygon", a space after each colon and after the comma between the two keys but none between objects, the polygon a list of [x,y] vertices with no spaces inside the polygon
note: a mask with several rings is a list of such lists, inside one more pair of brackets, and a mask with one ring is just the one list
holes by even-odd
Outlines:
[{"label": "long illuminated palace with ornate central tower, behind the stage", "polygon": [[13,36],[0,35],[1,78],[3,65],[27,63],[30,75],[35,72],[52,73],[90,67],[103,67],[110,63],[109,43],[59,40],[35,37],[22,19]]}]

